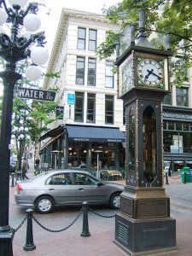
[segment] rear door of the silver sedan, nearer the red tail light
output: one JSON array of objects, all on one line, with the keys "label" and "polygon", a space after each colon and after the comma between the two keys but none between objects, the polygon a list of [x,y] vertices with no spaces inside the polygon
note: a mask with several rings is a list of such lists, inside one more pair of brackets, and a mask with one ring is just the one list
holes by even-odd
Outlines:
[{"label": "rear door of the silver sedan, nearer the red tail light", "polygon": [[76,189],[69,172],[56,173],[47,181],[49,195],[55,200],[55,205],[73,205],[76,201]]}]

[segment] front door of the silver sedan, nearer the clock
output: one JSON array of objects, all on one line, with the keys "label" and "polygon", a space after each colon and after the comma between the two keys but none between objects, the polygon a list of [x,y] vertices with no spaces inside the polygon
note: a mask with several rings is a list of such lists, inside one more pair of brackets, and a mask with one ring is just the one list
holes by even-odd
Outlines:
[{"label": "front door of the silver sedan, nearer the clock", "polygon": [[107,202],[106,186],[101,183],[98,185],[98,180],[90,177],[86,173],[73,173],[73,183],[76,189],[76,200],[79,203],[84,201],[90,204],[101,204]]}]

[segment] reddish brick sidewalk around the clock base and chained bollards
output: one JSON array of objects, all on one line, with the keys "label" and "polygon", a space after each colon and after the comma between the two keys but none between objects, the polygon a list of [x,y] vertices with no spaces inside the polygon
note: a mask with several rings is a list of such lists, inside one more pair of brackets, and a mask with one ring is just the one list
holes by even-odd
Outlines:
[{"label": "reddish brick sidewalk around the clock base and chained bollards", "polygon": [[[125,180],[113,181],[113,183],[121,183],[125,185]],[[178,186],[186,186],[189,188],[192,183],[183,185],[179,173],[169,177],[169,189]],[[165,185],[167,187],[168,185]],[[15,213],[22,220],[25,211],[15,205],[14,190],[10,188],[10,212]],[[171,206],[172,207],[172,206]],[[49,229],[61,229],[63,226],[70,224],[80,208],[61,209],[49,214],[34,213],[40,219],[40,223]],[[103,209],[103,211],[105,211]],[[11,216],[14,216],[11,214]],[[192,256],[192,214],[172,213],[172,218],[177,221],[177,252],[173,253],[156,253],[156,256]],[[10,220],[13,227],[17,226],[14,218]],[[31,252],[23,250],[26,241],[26,224],[24,224],[18,233],[15,234],[13,241],[14,256],[123,256],[125,255],[119,247],[114,245],[114,218],[100,218],[89,212],[89,237],[80,236],[82,231],[82,217],[73,224],[68,230],[61,233],[51,233],[41,229],[37,224],[33,223],[33,239],[36,249]]]}]

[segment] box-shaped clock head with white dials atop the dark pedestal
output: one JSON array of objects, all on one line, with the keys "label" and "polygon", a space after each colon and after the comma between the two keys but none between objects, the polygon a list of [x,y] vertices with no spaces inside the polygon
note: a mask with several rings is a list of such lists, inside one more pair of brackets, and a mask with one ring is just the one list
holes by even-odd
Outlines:
[{"label": "box-shaped clock head with white dials atop the dark pedestal", "polygon": [[166,55],[137,49],[133,46],[129,57],[119,66],[119,97],[133,88],[168,91]]}]

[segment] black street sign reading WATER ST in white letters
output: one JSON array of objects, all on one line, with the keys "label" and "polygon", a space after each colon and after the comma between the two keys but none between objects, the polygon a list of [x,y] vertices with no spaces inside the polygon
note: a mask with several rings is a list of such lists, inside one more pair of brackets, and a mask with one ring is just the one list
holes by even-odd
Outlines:
[{"label": "black street sign reading WATER ST in white letters", "polygon": [[15,91],[15,96],[18,98],[47,102],[54,102],[55,94],[56,92],[52,90],[37,90],[23,87],[18,87]]}]

